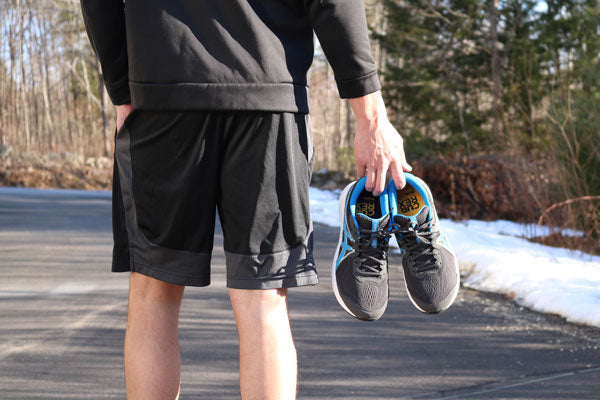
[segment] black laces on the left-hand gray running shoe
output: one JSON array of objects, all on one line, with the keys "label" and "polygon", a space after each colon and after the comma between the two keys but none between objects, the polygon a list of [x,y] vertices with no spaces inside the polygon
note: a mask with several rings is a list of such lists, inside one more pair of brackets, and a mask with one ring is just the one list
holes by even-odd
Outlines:
[{"label": "black laces on the left-hand gray running shoe", "polygon": [[[355,262],[358,262],[357,272],[365,277],[380,277],[386,263],[388,239],[390,233],[386,231],[387,224],[377,231],[358,228],[356,241],[351,245],[358,253]],[[375,241],[376,245],[373,245]]]}]

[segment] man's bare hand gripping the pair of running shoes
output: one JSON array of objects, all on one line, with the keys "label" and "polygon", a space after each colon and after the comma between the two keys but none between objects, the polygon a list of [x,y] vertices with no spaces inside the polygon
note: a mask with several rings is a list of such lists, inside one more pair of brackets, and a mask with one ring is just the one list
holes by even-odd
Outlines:
[{"label": "man's bare hand gripping the pair of running shoes", "polygon": [[[371,98],[369,98],[371,97]],[[404,171],[412,167],[404,154],[404,143],[390,123],[379,92],[362,98],[350,99],[357,116],[354,139],[354,157],[359,177],[367,176],[365,188],[379,196],[385,190],[388,170],[398,189],[406,185]]]}]

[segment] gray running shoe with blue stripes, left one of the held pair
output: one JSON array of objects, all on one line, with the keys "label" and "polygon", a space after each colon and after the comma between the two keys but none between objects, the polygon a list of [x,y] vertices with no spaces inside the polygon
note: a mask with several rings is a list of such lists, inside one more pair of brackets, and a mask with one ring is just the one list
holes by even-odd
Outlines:
[{"label": "gray running shoe with blue stripes, left one of the held pair", "polygon": [[389,298],[387,249],[391,236],[387,194],[365,190],[366,178],[349,184],[339,200],[340,239],[331,281],[335,297],[350,315],[379,319]]}]

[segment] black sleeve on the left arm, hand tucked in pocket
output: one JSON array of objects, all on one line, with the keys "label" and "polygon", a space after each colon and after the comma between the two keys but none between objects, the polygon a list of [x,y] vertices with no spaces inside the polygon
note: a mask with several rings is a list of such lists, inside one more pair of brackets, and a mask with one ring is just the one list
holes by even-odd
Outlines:
[{"label": "black sleeve on the left arm, hand tucked in pocket", "polygon": [[114,105],[131,102],[123,0],[80,0],[83,21]]}]

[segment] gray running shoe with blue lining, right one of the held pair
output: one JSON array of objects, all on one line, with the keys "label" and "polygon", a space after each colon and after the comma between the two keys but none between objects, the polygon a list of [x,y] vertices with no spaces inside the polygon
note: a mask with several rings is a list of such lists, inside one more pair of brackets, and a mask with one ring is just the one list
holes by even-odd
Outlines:
[{"label": "gray running shoe with blue lining, right one of the held pair", "polygon": [[436,314],[452,305],[460,286],[458,261],[450,242],[440,231],[440,221],[429,187],[405,173],[406,186],[396,191],[388,185],[392,232],[402,255],[404,281],[413,305]]}]

